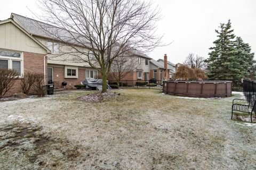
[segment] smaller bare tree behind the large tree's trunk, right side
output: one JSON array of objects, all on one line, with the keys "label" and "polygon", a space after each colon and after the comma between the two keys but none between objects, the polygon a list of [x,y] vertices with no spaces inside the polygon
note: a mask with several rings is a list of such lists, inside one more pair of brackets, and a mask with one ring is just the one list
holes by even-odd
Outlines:
[{"label": "smaller bare tree behind the large tree's trunk, right side", "polygon": [[111,65],[111,76],[115,78],[117,85],[129,73],[138,69],[137,56],[124,55],[116,57]]}]

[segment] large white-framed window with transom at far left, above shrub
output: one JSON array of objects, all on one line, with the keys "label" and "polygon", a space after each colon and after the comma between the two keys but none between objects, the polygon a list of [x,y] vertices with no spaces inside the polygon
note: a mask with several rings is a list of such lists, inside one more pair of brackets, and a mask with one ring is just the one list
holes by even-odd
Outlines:
[{"label": "large white-framed window with transom at far left, above shrub", "polygon": [[22,53],[0,50],[0,68],[16,70],[21,76],[23,74]]}]

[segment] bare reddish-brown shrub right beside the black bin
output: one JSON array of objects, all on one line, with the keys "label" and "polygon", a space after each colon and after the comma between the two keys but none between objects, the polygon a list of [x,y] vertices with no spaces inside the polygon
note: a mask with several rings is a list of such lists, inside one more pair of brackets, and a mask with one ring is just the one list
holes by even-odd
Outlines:
[{"label": "bare reddish-brown shrub right beside the black bin", "polygon": [[47,89],[46,86],[43,86],[44,83],[44,74],[33,73],[34,83],[32,85],[33,90],[35,90],[36,95],[43,97],[46,95]]}]

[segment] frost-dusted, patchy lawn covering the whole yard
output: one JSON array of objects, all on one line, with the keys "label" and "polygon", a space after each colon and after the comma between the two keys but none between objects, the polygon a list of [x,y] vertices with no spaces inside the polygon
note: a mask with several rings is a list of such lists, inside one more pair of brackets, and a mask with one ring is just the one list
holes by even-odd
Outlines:
[{"label": "frost-dusted, patchy lawn covering the whole yard", "polygon": [[1,169],[256,169],[256,126],[230,120],[239,94],[78,100],[92,92],[0,102]]}]

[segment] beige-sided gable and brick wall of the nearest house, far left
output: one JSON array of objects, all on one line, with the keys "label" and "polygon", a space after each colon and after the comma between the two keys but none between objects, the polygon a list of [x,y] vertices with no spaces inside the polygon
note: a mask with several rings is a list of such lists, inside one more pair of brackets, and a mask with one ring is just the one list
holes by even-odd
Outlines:
[{"label": "beige-sided gable and brick wall of the nearest house, far left", "polygon": [[[19,78],[25,72],[47,74],[46,55],[50,50],[12,19],[0,21],[0,68],[17,70]],[[5,96],[20,91],[20,80]]]}]

